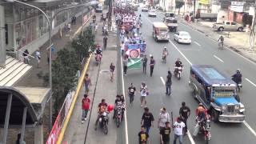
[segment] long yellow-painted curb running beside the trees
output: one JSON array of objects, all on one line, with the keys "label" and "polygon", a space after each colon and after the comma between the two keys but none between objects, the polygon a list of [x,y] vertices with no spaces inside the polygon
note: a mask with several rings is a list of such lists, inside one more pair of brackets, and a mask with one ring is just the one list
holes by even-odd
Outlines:
[{"label": "long yellow-painted curb running beside the trees", "polygon": [[86,62],[86,64],[85,64],[85,67],[84,67],[84,69],[82,70],[82,75],[81,75],[81,77],[79,78],[78,86],[77,86],[77,89],[75,90],[75,93],[74,93],[74,99],[73,99],[73,101],[72,101],[72,103],[71,103],[71,105],[70,105],[70,110],[69,110],[68,114],[66,115],[66,118],[65,118],[65,120],[64,120],[63,126],[62,126],[62,128],[61,128],[61,132],[60,132],[60,134],[58,135],[57,144],[61,144],[61,143],[62,143],[64,134],[65,134],[65,132],[66,132],[66,127],[68,126],[68,123],[70,122],[70,117],[71,117],[71,115],[72,115],[72,113],[73,113],[74,105],[75,105],[75,103],[77,102],[78,94],[79,94],[79,92],[80,92],[80,90],[81,90],[81,87],[82,87],[82,84],[83,84],[83,79],[84,79],[85,76],[86,76],[86,71],[87,71],[88,66],[89,66],[89,64],[90,64],[91,55],[92,55],[92,54],[90,54],[90,57],[87,59],[87,62]]}]

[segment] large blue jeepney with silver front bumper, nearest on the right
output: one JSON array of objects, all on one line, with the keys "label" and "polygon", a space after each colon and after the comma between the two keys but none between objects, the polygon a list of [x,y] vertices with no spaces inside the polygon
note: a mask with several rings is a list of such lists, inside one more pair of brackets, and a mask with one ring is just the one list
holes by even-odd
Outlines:
[{"label": "large blue jeepney with silver front bumper, nearest on the right", "polygon": [[191,66],[189,83],[193,97],[210,111],[214,122],[244,122],[245,107],[239,102],[236,83],[214,66]]}]

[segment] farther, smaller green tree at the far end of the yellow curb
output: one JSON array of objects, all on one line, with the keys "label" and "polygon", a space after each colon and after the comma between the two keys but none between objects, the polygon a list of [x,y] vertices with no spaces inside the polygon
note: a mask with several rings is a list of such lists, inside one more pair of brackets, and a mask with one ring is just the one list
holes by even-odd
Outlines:
[{"label": "farther, smaller green tree at the far end of the yellow curb", "polygon": [[94,38],[95,35],[93,34],[92,28],[87,27],[83,35],[79,34],[78,38],[74,39],[71,43],[71,46],[74,48],[80,62],[82,62],[82,58],[89,57],[89,50],[94,46]]}]

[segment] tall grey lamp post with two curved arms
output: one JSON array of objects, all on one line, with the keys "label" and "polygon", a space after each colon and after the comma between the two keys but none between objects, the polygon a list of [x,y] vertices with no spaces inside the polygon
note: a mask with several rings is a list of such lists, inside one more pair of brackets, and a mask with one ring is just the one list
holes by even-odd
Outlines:
[{"label": "tall grey lamp post with two curved arms", "polygon": [[[63,8],[62,10],[58,10],[52,17],[50,17],[49,15],[47,15],[43,10],[41,10],[39,7],[37,6],[33,6],[33,5],[30,5],[26,2],[20,2],[18,0],[6,0],[6,2],[18,2],[18,3],[21,3],[23,5],[26,5],[26,6],[30,6],[30,7],[33,7],[34,9],[37,9],[39,11],[42,12],[42,14],[44,14],[44,16],[46,17],[46,20],[47,20],[47,23],[48,23],[48,30],[49,30],[49,84],[50,84],[50,108],[49,108],[49,130],[51,129],[51,126],[52,126],[52,73],[51,73],[51,56],[52,56],[52,53],[51,53],[51,32],[52,32],[52,23],[53,23],[53,20],[54,18],[62,11],[64,10],[70,10],[72,8],[76,8],[76,7],[82,7],[82,6],[94,6],[94,5],[97,5],[98,2],[97,1],[91,1],[91,2],[88,2],[88,3],[85,3],[85,4],[82,4],[82,0],[81,0],[81,5],[77,5],[77,6],[68,6],[68,7],[65,7]],[[83,18],[83,17],[82,17]],[[83,25],[83,21],[82,21],[82,25]]]}]

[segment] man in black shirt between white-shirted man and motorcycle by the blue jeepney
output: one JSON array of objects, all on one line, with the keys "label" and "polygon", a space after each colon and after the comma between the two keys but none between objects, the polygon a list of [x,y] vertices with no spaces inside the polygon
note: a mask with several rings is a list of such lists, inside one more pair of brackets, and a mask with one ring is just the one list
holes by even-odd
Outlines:
[{"label": "man in black shirt between white-shirted man and motorcycle by the blue jeepney", "polygon": [[190,117],[190,114],[191,114],[190,108],[186,106],[186,102],[182,102],[182,107],[179,109],[179,115],[182,118],[182,122],[185,123],[185,129],[183,130],[185,134],[187,133],[186,121],[187,121],[187,118]]}]

